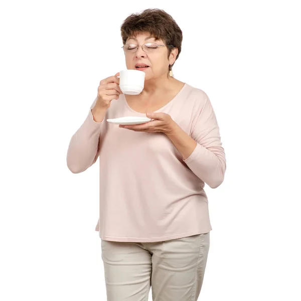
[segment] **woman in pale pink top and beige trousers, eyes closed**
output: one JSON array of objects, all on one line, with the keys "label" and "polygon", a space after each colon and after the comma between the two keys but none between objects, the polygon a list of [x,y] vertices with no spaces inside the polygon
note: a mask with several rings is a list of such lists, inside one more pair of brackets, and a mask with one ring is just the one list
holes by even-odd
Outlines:
[{"label": "woman in pale pink top and beige trousers, eyes closed", "polygon": [[[226,170],[219,126],[207,94],[171,76],[182,31],[170,15],[157,9],[133,14],[121,36],[126,67],[145,72],[144,89],[122,94],[118,73],[101,80],[71,138],[67,165],[81,173],[99,157],[95,230],[107,299],[147,300],[151,286],[155,301],[197,300],[212,230],[203,188],[217,188]],[[106,122],[145,114],[154,120]]]}]

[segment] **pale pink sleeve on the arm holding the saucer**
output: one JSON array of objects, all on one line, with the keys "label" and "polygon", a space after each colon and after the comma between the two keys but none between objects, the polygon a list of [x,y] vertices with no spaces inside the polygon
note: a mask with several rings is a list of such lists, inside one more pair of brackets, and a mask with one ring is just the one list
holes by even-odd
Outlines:
[{"label": "pale pink sleeve on the arm holding the saucer", "polygon": [[191,131],[197,146],[184,162],[209,187],[217,188],[224,181],[226,158],[216,115],[209,97],[204,95],[204,105]]}]

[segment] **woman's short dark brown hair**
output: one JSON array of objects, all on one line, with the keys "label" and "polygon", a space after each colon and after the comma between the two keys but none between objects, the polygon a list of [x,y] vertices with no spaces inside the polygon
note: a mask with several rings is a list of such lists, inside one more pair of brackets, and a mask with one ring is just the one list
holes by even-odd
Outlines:
[{"label": "woman's short dark brown hair", "polygon": [[[178,48],[178,59],[182,46],[182,30],[172,18],[171,15],[164,10],[147,9],[141,13],[131,14],[122,23],[121,27],[122,42],[125,44],[129,37],[135,37],[137,33],[148,32],[156,39],[161,39],[166,45],[173,45]],[[170,56],[172,47],[167,46],[168,56]],[[169,66],[172,70],[172,66]]]}]

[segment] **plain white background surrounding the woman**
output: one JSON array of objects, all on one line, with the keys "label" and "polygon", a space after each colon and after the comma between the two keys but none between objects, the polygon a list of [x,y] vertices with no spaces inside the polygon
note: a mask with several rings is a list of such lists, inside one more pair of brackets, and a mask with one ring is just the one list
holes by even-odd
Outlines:
[{"label": "plain white background surrounding the woman", "polygon": [[4,1],[0,299],[105,300],[98,161],[66,165],[99,81],[125,69],[120,26],[164,9],[183,31],[175,77],[204,90],[226,152],[205,190],[211,246],[200,300],[300,300],[298,1]]}]

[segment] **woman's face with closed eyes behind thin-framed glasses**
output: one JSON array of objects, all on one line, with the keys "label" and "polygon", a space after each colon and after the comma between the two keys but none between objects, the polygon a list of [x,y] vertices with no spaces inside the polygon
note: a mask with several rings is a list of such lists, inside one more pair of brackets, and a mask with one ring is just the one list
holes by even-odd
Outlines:
[{"label": "woman's face with closed eyes behind thin-framed glasses", "polygon": [[[142,50],[141,46],[145,43],[165,44],[162,40],[156,40],[150,37],[149,33],[141,33],[136,37],[129,37],[125,44],[138,45],[138,49],[125,51],[125,64],[127,69],[141,70],[145,73],[145,80],[160,78],[169,72],[169,65],[175,62],[178,50],[173,48],[172,53],[168,57],[168,48],[158,47],[156,49]],[[145,49],[146,47],[143,46]],[[149,67],[139,69],[136,65],[145,64]]]}]

